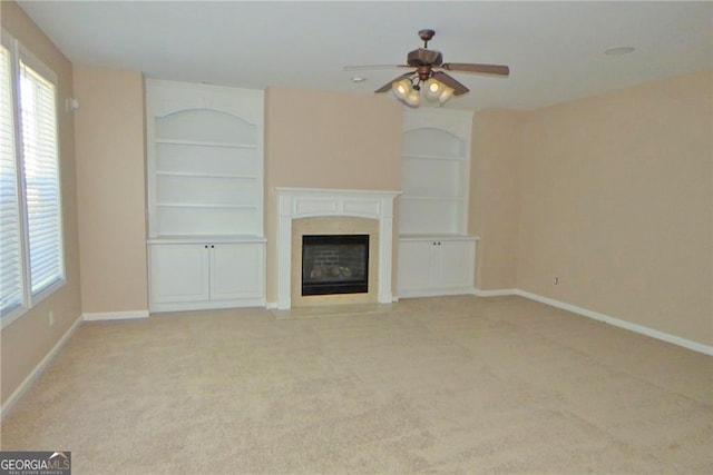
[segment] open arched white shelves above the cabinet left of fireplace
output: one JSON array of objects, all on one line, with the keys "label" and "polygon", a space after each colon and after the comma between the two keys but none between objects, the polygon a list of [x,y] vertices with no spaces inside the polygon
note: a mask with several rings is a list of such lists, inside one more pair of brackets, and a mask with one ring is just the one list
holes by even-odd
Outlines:
[{"label": "open arched white shelves above the cabinet left of fireplace", "polygon": [[263,236],[263,92],[147,81],[149,236]]}]

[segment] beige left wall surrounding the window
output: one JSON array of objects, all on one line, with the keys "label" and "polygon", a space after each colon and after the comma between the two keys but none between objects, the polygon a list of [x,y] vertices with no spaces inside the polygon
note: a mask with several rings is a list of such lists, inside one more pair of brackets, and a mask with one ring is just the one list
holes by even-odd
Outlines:
[{"label": "beige left wall surrounding the window", "polygon": [[[65,100],[72,97],[72,67],[14,2],[2,1],[0,8],[2,9],[0,12],[2,28],[52,69],[59,79],[59,154],[67,277],[64,287],[2,329],[0,397],[4,403],[77,320],[81,314],[81,304],[75,179],[75,122],[72,113],[65,109]],[[50,310],[56,320],[52,327],[49,326]]]}]

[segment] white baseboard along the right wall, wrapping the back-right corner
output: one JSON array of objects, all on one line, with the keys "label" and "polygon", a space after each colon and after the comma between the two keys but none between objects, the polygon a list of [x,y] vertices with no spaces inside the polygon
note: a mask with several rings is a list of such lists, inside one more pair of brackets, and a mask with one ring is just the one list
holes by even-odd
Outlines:
[{"label": "white baseboard along the right wall, wrapping the back-right corner", "polygon": [[633,324],[631,321],[622,320],[621,318],[611,317],[608,315],[599,314],[598,311],[589,310],[586,308],[577,307],[576,305],[567,304],[565,301],[556,300],[554,298],[544,297],[541,295],[533,294],[529,291],[516,289],[496,289],[496,290],[479,290],[476,289],[473,295],[478,297],[497,297],[506,295],[517,295],[520,297],[529,298],[530,300],[539,301],[540,304],[549,305],[551,307],[561,308],[563,310],[572,311],[573,314],[582,315],[583,317],[593,318],[595,320],[604,321],[615,327],[624,328],[629,331],[635,331],[641,335],[646,335],[652,338],[660,339],[662,342],[671,343],[673,345],[682,346],[694,352],[703,353],[705,355],[713,356],[713,346],[704,345],[699,342],[693,342],[686,338],[682,338],[676,335],[671,335],[665,331],[656,330],[643,325]]}]

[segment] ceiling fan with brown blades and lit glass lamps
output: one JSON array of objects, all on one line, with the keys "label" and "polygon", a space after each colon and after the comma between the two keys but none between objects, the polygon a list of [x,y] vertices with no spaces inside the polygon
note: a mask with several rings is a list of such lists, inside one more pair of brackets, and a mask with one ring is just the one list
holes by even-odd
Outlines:
[{"label": "ceiling fan with brown blades and lit glass lamps", "polygon": [[[416,68],[406,72],[390,82],[387,82],[374,92],[387,92],[393,90],[395,96],[409,106],[418,107],[422,85],[426,86],[426,97],[430,100],[438,100],[445,103],[451,96],[461,96],[469,91],[462,83],[451,76],[441,71],[475,72],[480,75],[492,75],[508,77],[510,69],[501,65],[473,65],[467,62],[443,62],[443,55],[440,51],[428,49],[428,42],[433,38],[436,31],[420,30],[419,38],[423,41],[423,48],[414,49],[407,56],[407,65],[398,65],[397,68]],[[380,68],[375,67],[346,67],[346,70]]]}]

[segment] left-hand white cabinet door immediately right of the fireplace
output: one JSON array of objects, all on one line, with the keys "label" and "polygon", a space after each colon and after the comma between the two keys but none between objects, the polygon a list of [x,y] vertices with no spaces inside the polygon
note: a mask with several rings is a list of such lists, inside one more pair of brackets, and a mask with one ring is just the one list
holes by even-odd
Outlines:
[{"label": "left-hand white cabinet door immediately right of the fireplace", "polygon": [[433,287],[433,243],[429,240],[399,241],[399,295]]}]

